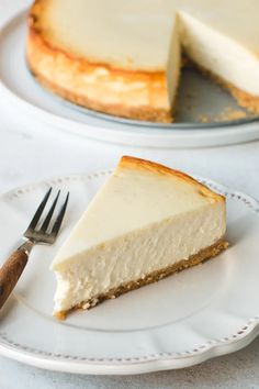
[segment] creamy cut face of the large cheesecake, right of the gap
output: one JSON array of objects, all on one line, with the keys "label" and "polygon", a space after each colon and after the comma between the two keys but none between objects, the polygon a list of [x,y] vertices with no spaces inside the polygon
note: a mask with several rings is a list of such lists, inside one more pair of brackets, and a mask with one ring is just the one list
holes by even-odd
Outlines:
[{"label": "creamy cut face of the large cheesecake, right of the gap", "polygon": [[[199,66],[250,95],[259,96],[259,56],[238,41],[180,12],[180,40],[187,55]],[[259,38],[259,33],[258,33]]]}]

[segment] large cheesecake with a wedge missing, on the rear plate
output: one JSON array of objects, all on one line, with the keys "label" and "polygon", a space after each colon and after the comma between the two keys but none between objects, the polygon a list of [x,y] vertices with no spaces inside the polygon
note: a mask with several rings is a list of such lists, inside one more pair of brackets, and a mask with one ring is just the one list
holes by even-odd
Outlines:
[{"label": "large cheesecake with a wedge missing, on the rear plate", "polygon": [[36,0],[27,64],[77,104],[170,122],[184,52],[259,113],[258,15],[257,0]]}]

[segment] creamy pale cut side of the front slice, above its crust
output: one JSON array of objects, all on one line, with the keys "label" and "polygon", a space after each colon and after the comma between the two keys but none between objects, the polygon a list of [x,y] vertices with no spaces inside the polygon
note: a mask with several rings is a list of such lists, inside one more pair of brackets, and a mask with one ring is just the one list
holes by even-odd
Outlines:
[{"label": "creamy pale cut side of the front slice, above its crust", "polygon": [[67,311],[124,282],[188,260],[224,233],[225,207],[217,202],[82,252],[55,271],[54,311]]}]

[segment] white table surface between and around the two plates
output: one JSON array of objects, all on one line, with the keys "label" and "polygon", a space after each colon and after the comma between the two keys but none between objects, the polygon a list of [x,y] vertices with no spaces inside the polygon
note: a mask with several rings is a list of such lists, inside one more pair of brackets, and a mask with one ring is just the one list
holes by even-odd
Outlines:
[{"label": "white table surface between and around the two plates", "polygon": [[[8,13],[18,2],[0,0],[1,12]],[[171,151],[105,145],[63,135],[33,122],[0,97],[0,192],[52,176],[106,169],[114,166],[123,154],[150,158],[259,198],[258,142],[221,148]],[[243,351],[189,369],[128,377],[45,371],[0,357],[1,389],[193,387],[259,388],[259,338]]]}]

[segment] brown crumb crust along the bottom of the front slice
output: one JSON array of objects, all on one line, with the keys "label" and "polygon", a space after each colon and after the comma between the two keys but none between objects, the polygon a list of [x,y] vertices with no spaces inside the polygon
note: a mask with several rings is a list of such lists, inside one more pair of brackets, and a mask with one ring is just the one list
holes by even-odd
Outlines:
[{"label": "brown crumb crust along the bottom of the front slice", "polygon": [[109,290],[106,293],[95,296],[94,298],[92,298],[88,301],[80,302],[79,304],[72,307],[71,309],[69,309],[67,311],[56,312],[54,315],[58,320],[65,320],[66,316],[69,313],[71,313],[72,311],[76,311],[79,309],[80,310],[91,309],[104,300],[115,299],[119,296],[126,293],[131,290],[138,289],[138,288],[144,287],[145,285],[148,285],[148,284],[157,282],[162,278],[166,278],[166,277],[171,276],[176,273],[179,273],[183,269],[199,265],[210,258],[213,258],[216,255],[218,255],[222,251],[226,249],[227,247],[228,247],[228,243],[226,241],[221,240],[217,243],[215,243],[214,245],[202,249],[198,254],[192,255],[188,260],[182,259],[182,260],[178,262],[177,264],[173,264],[167,268],[153,271],[149,275],[147,275],[145,278],[139,278],[134,281],[122,284],[119,287]]}]

